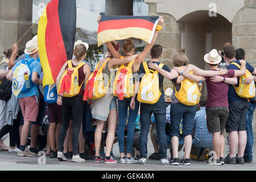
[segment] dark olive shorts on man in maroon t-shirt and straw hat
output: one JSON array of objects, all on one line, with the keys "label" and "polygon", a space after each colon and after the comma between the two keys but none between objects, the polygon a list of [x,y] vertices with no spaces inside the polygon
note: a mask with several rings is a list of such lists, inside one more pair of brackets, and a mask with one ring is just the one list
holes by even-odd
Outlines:
[{"label": "dark olive shorts on man in maroon t-shirt and straw hat", "polygon": [[207,128],[209,133],[220,132],[221,135],[225,129],[226,119],[229,116],[229,107],[209,107],[207,113]]}]

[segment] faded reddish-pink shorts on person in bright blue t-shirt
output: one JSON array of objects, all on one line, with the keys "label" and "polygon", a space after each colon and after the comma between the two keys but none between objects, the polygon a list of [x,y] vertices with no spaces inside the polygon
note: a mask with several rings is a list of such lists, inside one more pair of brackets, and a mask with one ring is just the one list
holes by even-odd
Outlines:
[{"label": "faded reddish-pink shorts on person in bright blue t-shirt", "polygon": [[19,106],[22,110],[24,121],[36,122],[39,110],[39,99],[36,96],[19,98]]}]

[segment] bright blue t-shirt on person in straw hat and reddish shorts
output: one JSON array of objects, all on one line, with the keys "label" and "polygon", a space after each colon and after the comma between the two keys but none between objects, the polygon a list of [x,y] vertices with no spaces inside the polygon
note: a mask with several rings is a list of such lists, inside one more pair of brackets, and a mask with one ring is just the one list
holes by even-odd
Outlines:
[{"label": "bright blue t-shirt on person in straw hat and reddish shorts", "polygon": [[[15,69],[21,64],[21,62],[22,61],[18,61],[18,63],[16,63],[15,66],[11,70],[15,71]],[[40,78],[41,64],[38,61],[33,61],[30,64],[30,71],[31,71],[31,74],[33,72],[37,72],[38,73],[38,78]],[[24,97],[31,97],[31,96],[38,96],[39,97],[38,85],[33,84],[32,88],[28,92],[19,93],[17,98],[24,98]]]}]

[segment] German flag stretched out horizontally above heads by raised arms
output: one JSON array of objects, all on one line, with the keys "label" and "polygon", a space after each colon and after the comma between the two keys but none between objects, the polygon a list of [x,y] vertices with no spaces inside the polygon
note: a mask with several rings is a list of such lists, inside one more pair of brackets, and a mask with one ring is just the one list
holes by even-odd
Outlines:
[{"label": "German flag stretched out horizontally above heads by raised arms", "polygon": [[159,16],[102,16],[98,26],[98,46],[131,37],[151,43],[158,21]]}]

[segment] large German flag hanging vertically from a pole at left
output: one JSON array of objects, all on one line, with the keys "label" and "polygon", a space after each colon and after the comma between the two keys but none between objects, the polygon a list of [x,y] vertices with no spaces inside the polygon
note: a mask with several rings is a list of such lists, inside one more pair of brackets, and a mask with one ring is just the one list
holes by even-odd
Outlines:
[{"label": "large German flag hanging vertically from a pole at left", "polygon": [[43,86],[56,82],[61,67],[72,59],[76,34],[76,0],[52,0],[38,24]]}]

